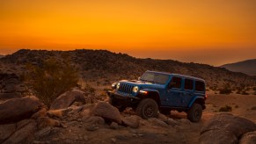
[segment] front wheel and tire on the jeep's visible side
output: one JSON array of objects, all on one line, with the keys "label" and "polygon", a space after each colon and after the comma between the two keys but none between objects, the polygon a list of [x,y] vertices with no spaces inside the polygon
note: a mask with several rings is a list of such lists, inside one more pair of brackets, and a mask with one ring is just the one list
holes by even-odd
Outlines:
[{"label": "front wheel and tire on the jeep's visible side", "polygon": [[143,99],[136,108],[137,115],[143,119],[157,118],[158,116],[158,105],[154,99],[145,98]]}]

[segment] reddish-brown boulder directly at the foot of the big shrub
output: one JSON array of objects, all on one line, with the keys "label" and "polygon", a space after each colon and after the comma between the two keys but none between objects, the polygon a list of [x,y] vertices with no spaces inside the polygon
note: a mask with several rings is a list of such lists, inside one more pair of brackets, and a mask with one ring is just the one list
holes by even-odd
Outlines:
[{"label": "reddish-brown boulder directly at the foot of the big shrub", "polygon": [[75,102],[82,102],[84,103],[85,99],[85,92],[81,90],[69,90],[63,93],[61,96],[57,97],[53,104],[51,104],[51,110],[57,109],[65,109],[68,108]]}]

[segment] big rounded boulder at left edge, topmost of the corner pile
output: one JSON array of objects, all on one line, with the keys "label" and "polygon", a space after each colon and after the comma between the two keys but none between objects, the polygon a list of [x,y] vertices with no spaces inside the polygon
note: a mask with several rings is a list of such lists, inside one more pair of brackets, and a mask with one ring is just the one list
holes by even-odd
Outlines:
[{"label": "big rounded boulder at left edge, topmost of the corner pile", "polygon": [[42,104],[35,97],[12,98],[0,104],[0,124],[15,123],[29,119]]}]

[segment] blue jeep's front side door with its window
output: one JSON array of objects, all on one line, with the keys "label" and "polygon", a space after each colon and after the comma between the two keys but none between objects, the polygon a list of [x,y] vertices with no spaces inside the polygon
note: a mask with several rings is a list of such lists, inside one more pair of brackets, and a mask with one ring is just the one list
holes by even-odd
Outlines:
[{"label": "blue jeep's front side door with its window", "polygon": [[180,107],[182,104],[182,78],[173,76],[166,89],[166,102],[168,106]]}]

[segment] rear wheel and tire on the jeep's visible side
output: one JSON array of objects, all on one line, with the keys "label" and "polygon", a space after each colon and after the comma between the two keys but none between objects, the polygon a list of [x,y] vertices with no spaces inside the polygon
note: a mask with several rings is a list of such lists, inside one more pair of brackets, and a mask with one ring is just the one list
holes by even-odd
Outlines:
[{"label": "rear wheel and tire on the jeep's visible side", "polygon": [[192,122],[198,122],[201,119],[202,107],[201,104],[194,103],[193,106],[187,112],[187,119]]}]

